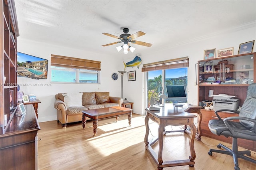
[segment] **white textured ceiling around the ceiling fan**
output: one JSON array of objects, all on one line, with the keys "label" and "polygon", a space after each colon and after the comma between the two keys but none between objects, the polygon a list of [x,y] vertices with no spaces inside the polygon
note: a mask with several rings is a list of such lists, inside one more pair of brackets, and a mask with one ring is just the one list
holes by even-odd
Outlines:
[{"label": "white textured ceiling around the ceiling fan", "polygon": [[[252,1],[113,1],[113,0],[15,0],[20,37],[38,42],[110,55],[116,46],[101,45],[118,39],[103,35],[146,35],[132,45],[134,53],[157,51],[197,41],[256,23],[256,0]],[[129,51],[130,53],[130,51]]]}]

